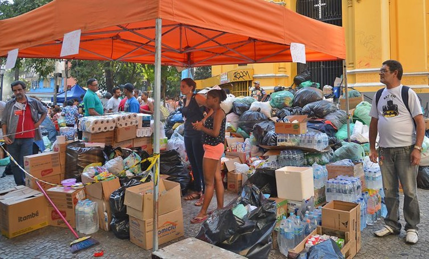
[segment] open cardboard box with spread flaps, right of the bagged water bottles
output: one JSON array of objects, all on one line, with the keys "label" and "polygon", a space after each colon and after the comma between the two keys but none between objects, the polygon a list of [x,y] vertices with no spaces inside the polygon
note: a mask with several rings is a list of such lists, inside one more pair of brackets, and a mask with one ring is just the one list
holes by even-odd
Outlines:
[{"label": "open cardboard box with spread flaps, right of the bagged water bottles", "polygon": [[[94,179],[82,174],[83,184],[93,181]],[[86,198],[98,203],[98,222],[100,229],[104,231],[110,230],[110,222],[112,221],[109,203],[110,194],[120,187],[121,184],[119,183],[119,178],[106,179],[104,181],[85,186]]]}]

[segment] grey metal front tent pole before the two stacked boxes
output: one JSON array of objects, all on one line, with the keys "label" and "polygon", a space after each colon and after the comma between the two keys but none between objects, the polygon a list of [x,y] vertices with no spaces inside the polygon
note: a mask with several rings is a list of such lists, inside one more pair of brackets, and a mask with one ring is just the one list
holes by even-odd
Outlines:
[{"label": "grey metal front tent pole before the two stacked boxes", "polygon": [[[155,113],[154,113],[154,154],[160,153],[160,122],[161,122],[161,33],[162,19],[156,19],[155,25]],[[158,250],[158,181],[159,175],[156,170],[160,168],[160,160],[153,167],[153,182],[154,182],[154,221],[153,221],[153,251]]]}]

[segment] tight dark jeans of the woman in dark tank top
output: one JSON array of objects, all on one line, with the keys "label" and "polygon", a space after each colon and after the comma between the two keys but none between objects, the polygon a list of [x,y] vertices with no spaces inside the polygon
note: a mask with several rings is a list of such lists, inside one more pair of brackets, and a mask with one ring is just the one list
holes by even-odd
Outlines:
[{"label": "tight dark jeans of the woman in dark tank top", "polygon": [[194,173],[194,184],[191,189],[196,192],[205,191],[206,184],[204,183],[203,174],[203,156],[204,149],[201,142],[201,134],[196,136],[185,136],[185,148],[191,163],[192,172]]}]

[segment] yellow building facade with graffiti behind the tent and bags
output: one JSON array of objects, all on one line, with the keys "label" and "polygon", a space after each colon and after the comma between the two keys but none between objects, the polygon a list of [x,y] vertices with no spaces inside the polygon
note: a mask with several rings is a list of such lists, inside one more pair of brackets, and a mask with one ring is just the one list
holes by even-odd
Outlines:
[{"label": "yellow building facade with graffiti behind the tent and bags", "polygon": [[[296,11],[299,1],[271,2]],[[334,1],[339,2],[314,0],[314,4],[326,3],[321,7],[323,10]],[[429,0],[342,0],[341,5],[349,86],[361,92],[375,92],[383,87],[378,74],[383,61],[396,59],[404,67],[403,84],[417,93],[429,93]],[[317,8],[315,6],[315,11]],[[213,66],[213,77],[197,83],[199,89],[215,84],[229,88],[229,83],[235,79],[241,86],[233,83],[232,88],[240,94],[245,87],[252,86],[253,81],[260,81],[261,87],[271,92],[275,86],[291,86],[297,70],[295,63]],[[234,77],[234,73],[247,73],[249,77]]]}]

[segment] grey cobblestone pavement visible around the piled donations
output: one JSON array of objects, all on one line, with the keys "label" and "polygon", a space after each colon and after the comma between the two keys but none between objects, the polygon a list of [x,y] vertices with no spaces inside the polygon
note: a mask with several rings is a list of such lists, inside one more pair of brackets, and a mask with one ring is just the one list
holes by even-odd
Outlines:
[{"label": "grey cobblestone pavement visible around the piled donations", "polygon": [[[3,171],[0,168],[0,175]],[[14,186],[13,176],[7,175],[0,178],[0,190]],[[225,192],[225,204],[236,196],[231,192]],[[355,257],[356,259],[396,259],[396,258],[429,258],[428,232],[429,232],[429,191],[419,189],[419,201],[421,208],[422,223],[419,225],[420,241],[417,245],[405,244],[405,231],[399,236],[376,238],[372,232],[382,226],[381,221],[376,225],[368,227],[362,233],[362,249]],[[401,196],[401,207],[403,198]],[[195,216],[199,208],[192,201],[183,201],[185,237],[194,237],[199,229],[199,224],[190,224],[189,221]],[[215,199],[212,201],[212,209],[215,207]],[[404,225],[401,213],[401,223]],[[129,240],[117,239],[112,232],[99,230],[92,237],[100,242],[99,245],[81,251],[76,255],[69,252],[69,243],[75,238],[68,229],[57,227],[45,227],[28,234],[7,239],[0,236],[0,259],[69,259],[69,258],[92,258],[95,252],[104,251],[102,258],[135,259],[150,258],[151,252],[143,250],[132,244]],[[175,240],[174,242],[177,242]],[[173,242],[161,245],[165,247]],[[278,251],[272,250],[269,259],[285,258]]]}]

